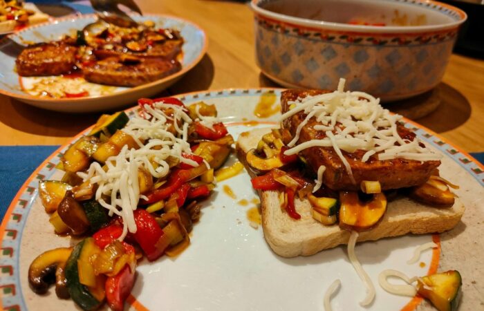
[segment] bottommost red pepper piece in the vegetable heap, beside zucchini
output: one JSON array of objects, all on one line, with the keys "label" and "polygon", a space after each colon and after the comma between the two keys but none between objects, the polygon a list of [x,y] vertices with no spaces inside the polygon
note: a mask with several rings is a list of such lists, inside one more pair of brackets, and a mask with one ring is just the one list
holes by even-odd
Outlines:
[{"label": "bottommost red pepper piece in the vegetable heap, beside zucchini", "polygon": [[124,301],[133,289],[134,276],[135,272],[131,271],[129,265],[126,265],[118,274],[106,279],[106,301],[111,310],[124,310]]}]

